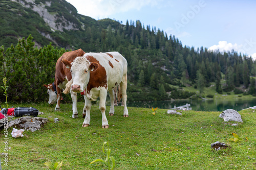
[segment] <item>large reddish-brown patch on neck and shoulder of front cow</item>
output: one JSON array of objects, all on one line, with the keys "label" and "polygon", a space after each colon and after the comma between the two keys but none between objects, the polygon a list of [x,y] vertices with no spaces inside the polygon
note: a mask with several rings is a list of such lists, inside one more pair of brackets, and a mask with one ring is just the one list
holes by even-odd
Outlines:
[{"label": "large reddish-brown patch on neck and shoulder of front cow", "polygon": [[98,63],[96,70],[90,71],[90,79],[87,85],[87,93],[89,94],[92,88],[105,87],[108,88],[108,82],[106,80],[106,70],[93,56],[86,56],[87,60]]}]

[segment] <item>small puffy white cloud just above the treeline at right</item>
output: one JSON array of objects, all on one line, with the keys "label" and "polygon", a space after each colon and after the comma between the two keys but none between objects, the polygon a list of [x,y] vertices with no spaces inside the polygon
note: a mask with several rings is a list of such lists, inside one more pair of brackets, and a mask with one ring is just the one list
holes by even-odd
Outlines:
[{"label": "small puffy white cloud just above the treeline at right", "polygon": [[243,47],[243,45],[238,45],[237,43],[228,43],[227,41],[219,41],[219,44],[218,45],[212,45],[209,47],[209,50],[212,50],[212,51],[216,51],[216,50],[219,50],[220,52],[223,52],[223,51],[237,51],[239,52],[241,50],[241,48]]}]

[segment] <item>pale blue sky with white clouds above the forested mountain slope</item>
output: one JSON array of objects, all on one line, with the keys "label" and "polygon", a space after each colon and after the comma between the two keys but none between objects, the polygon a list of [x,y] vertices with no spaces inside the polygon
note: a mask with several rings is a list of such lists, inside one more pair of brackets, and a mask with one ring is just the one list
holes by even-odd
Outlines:
[{"label": "pale blue sky with white clouds above the forested mountain slope", "polygon": [[256,1],[66,0],[96,20],[140,20],[184,45],[235,51],[256,59]]}]

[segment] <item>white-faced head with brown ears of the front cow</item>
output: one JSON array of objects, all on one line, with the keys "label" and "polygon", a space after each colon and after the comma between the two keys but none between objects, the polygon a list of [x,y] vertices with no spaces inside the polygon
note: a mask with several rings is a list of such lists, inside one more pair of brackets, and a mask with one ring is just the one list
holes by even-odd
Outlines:
[{"label": "white-faced head with brown ears of the front cow", "polygon": [[85,57],[77,57],[73,62],[62,59],[62,62],[71,71],[73,84],[71,90],[74,92],[82,92],[86,89],[90,80],[90,71],[95,71],[99,64],[90,62]]}]

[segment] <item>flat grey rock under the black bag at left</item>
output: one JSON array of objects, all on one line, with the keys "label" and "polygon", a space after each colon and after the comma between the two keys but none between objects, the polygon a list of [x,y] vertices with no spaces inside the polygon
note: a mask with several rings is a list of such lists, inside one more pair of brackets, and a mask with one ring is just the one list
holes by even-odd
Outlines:
[{"label": "flat grey rock under the black bag at left", "polygon": [[36,131],[49,122],[48,118],[24,116],[9,122],[8,127],[14,126],[19,129]]}]

